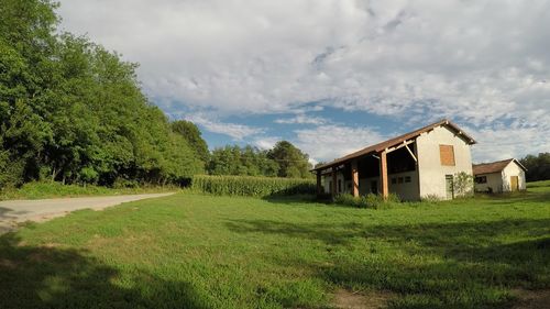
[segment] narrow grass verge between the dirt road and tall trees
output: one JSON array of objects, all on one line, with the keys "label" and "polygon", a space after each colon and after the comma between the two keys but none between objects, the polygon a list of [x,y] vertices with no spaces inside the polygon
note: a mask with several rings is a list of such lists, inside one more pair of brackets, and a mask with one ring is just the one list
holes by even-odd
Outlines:
[{"label": "narrow grass verge between the dirt road and tall trees", "polygon": [[62,185],[61,183],[29,183],[19,189],[0,190],[0,200],[10,199],[45,199],[59,197],[84,197],[84,196],[117,196],[152,194],[163,191],[176,191],[173,187],[138,187],[138,188],[108,188],[101,186]]}]

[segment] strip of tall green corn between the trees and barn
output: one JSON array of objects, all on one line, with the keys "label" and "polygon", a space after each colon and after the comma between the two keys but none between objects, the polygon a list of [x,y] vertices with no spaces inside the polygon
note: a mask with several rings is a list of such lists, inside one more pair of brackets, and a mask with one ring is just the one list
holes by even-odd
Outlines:
[{"label": "strip of tall green corn between the trees and barn", "polygon": [[193,177],[191,189],[217,196],[314,195],[316,183],[310,179],[198,175]]}]

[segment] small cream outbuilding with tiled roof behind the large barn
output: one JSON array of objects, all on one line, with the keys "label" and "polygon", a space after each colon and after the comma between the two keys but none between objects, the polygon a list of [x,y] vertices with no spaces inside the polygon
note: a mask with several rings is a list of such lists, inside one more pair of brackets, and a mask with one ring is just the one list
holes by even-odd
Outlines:
[{"label": "small cream outbuilding with tiled roof behind the large barn", "polygon": [[472,166],[477,192],[512,192],[526,189],[525,172],[515,158]]}]

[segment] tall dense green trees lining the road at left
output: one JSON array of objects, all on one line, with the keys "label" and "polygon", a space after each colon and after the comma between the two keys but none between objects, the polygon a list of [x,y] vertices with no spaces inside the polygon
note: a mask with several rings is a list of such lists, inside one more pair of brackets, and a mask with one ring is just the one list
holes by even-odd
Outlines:
[{"label": "tall dense green trees lining the road at left", "polygon": [[0,0],[0,188],[165,184],[202,172],[189,141],[141,92],[136,66],[57,34],[54,9]]}]

